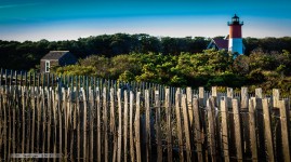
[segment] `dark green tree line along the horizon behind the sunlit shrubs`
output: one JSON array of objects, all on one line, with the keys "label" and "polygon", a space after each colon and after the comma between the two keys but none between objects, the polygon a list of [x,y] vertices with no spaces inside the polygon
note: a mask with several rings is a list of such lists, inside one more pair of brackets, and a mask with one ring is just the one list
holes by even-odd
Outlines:
[{"label": "dark green tree line along the horizon behind the sunlit shrubs", "polygon": [[[68,50],[78,58],[90,55],[115,57],[120,54],[161,54],[178,56],[181,53],[201,53],[210,38],[204,37],[154,37],[146,33],[101,35],[78,40],[65,41],[4,41],[0,40],[0,66],[8,69],[28,70],[39,65],[40,58],[49,51]],[[253,50],[265,52],[291,51],[291,37],[283,38],[244,38],[246,55]]]}]

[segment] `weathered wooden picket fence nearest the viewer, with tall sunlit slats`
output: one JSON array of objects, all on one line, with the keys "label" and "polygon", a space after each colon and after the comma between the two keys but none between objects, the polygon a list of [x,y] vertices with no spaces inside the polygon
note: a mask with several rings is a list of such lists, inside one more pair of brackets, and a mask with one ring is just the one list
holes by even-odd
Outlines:
[{"label": "weathered wooden picket fence nearest the viewer, with tall sunlit slats", "polygon": [[273,93],[0,85],[0,159],[290,161],[290,104]]}]

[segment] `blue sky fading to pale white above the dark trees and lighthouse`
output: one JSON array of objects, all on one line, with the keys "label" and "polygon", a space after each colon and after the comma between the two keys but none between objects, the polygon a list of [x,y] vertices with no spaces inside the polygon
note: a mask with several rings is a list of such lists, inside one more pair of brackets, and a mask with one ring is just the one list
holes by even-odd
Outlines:
[{"label": "blue sky fading to pale white above the dark trees and lighthouse", "polygon": [[236,13],[243,37],[291,36],[290,0],[0,0],[1,40],[149,33],[215,37]]}]

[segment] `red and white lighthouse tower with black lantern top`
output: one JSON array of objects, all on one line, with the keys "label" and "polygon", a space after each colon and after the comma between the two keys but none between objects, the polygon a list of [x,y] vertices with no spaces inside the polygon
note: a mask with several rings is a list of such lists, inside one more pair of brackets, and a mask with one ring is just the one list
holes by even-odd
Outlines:
[{"label": "red and white lighthouse tower with black lantern top", "polygon": [[235,14],[229,26],[228,51],[232,53],[243,54],[243,44],[241,38],[241,26],[243,22],[239,22],[239,17]]}]

